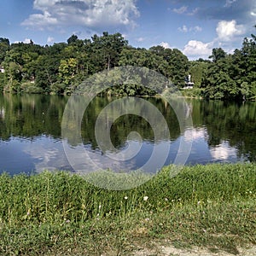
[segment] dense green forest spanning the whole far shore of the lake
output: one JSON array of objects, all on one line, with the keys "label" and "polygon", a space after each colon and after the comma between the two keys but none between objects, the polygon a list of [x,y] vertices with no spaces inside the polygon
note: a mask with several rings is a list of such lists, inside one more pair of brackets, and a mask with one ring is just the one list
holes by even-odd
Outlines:
[{"label": "dense green forest spanning the whole far shore of the lake", "polygon": [[[70,94],[94,73],[112,67],[137,66],[163,74],[179,89],[183,89],[190,74],[195,84],[192,91],[197,96],[255,100],[256,36],[251,36],[244,38],[241,49],[233,54],[216,48],[209,60],[197,61],[189,61],[179,49],[160,45],[134,48],[120,33],[103,32],[102,36],[84,40],[72,35],[67,43],[51,46],[34,44],[32,40],[30,44],[10,44],[8,38],[0,38],[0,91]],[[125,95],[132,91],[134,95],[142,90],[131,84],[114,91]]]}]

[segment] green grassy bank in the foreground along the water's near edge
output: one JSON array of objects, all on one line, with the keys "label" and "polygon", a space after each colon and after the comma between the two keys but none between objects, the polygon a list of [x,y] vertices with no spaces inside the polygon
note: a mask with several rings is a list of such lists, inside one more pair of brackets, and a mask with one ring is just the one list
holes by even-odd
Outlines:
[{"label": "green grassy bank in the foreground along the water's near edge", "polygon": [[137,189],[83,177],[0,176],[0,255],[131,255],[155,242],[237,253],[256,240],[256,165],[170,167]]}]

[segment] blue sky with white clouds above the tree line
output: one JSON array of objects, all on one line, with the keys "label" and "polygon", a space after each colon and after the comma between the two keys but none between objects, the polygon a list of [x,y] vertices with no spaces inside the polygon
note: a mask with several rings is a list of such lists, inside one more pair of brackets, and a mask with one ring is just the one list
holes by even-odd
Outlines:
[{"label": "blue sky with white clouds above the tree line", "polygon": [[256,34],[256,0],[1,0],[0,38],[54,44],[120,32],[133,47],[180,49],[189,60],[241,49]]}]

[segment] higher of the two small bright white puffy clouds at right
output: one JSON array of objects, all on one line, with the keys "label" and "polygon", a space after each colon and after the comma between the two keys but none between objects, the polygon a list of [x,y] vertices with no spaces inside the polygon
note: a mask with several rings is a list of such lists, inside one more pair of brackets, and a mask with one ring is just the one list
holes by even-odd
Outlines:
[{"label": "higher of the two small bright white puffy clouds at right", "polygon": [[245,28],[242,25],[236,25],[236,20],[221,20],[218,22],[216,32],[219,40],[230,41],[234,37],[243,34],[245,32]]}]

